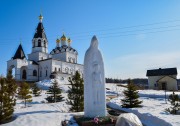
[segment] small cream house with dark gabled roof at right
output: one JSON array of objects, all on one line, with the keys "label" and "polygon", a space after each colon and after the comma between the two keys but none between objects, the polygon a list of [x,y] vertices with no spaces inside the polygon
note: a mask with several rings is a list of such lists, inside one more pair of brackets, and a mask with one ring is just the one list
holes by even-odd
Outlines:
[{"label": "small cream house with dark gabled roof at right", "polygon": [[147,70],[146,76],[149,89],[178,90],[176,68]]}]

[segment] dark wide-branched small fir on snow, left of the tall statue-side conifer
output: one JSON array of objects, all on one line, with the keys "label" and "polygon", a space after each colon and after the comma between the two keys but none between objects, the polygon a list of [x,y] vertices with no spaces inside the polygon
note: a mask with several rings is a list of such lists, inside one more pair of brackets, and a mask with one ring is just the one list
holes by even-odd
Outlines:
[{"label": "dark wide-branched small fir on snow, left of the tall statue-side conifer", "polygon": [[45,98],[49,103],[61,102],[63,97],[61,96],[62,90],[58,86],[58,82],[55,80],[53,85],[49,87],[47,94],[51,94]]}]

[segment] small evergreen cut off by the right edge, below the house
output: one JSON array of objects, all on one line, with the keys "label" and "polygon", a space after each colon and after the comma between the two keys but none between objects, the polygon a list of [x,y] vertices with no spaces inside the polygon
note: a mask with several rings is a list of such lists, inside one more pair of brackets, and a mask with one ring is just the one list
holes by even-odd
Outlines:
[{"label": "small evergreen cut off by the right edge, below the house", "polygon": [[167,108],[166,111],[171,114],[177,114],[177,111],[180,110],[180,97],[173,92],[173,94],[169,95],[169,101],[171,107]]}]

